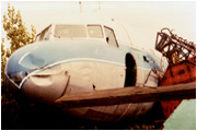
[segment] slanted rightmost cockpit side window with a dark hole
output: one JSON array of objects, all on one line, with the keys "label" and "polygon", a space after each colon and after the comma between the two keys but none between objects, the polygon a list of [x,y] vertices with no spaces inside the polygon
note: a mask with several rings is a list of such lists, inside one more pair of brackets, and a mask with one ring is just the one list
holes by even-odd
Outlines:
[{"label": "slanted rightmost cockpit side window with a dark hole", "polygon": [[109,27],[106,27],[106,26],[104,27],[104,31],[105,31],[105,35],[106,35],[105,36],[106,41],[108,43],[108,45],[118,47],[114,31],[112,28],[109,28]]}]

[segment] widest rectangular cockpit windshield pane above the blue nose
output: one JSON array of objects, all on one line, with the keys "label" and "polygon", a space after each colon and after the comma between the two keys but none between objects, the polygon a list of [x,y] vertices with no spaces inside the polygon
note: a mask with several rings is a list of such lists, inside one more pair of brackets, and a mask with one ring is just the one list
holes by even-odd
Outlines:
[{"label": "widest rectangular cockpit windshield pane above the blue nose", "polygon": [[57,38],[74,38],[86,37],[84,25],[56,25],[55,37]]}]

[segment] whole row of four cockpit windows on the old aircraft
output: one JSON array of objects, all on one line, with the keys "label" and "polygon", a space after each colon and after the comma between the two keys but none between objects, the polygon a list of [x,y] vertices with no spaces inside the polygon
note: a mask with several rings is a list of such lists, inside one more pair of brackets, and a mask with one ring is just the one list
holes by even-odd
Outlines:
[{"label": "whole row of four cockpit windows on the old aircraft", "polygon": [[[104,34],[101,25],[88,25],[88,34],[92,38],[104,38]],[[36,40],[47,40],[50,37],[51,25],[45,28],[39,35],[37,35]],[[114,31],[109,27],[104,26],[105,39],[112,45],[116,46],[117,40]],[[56,25],[54,37],[56,38],[83,38],[88,37],[84,25]]]}]

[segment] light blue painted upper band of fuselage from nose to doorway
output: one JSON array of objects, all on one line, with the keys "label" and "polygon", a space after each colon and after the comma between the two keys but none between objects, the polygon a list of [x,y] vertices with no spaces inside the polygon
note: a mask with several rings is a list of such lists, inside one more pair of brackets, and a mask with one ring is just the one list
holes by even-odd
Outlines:
[{"label": "light blue painted upper band of fuselage from nose to doorway", "polygon": [[7,72],[28,71],[67,59],[90,58],[125,63],[125,51],[96,40],[57,40],[25,46],[10,58]]}]

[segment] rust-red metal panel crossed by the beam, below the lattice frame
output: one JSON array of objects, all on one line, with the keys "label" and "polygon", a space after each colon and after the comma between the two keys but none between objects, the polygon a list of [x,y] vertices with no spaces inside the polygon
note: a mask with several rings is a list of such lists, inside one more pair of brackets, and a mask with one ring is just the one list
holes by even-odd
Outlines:
[{"label": "rust-red metal panel crossed by the beam, below the lattice frame", "polygon": [[[196,63],[194,63],[195,60],[196,56],[188,60],[169,66],[160,86],[196,82]],[[182,100],[161,102],[166,119],[181,103]]]}]

